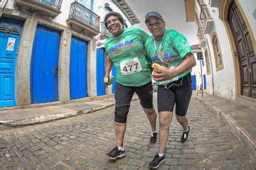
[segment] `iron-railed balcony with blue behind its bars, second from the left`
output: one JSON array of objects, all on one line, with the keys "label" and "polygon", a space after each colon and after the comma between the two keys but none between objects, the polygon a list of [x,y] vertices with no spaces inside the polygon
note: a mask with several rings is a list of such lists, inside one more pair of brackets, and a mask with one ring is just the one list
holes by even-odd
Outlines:
[{"label": "iron-railed balcony with blue behind its bars, second from the left", "polygon": [[76,1],[71,4],[67,22],[75,30],[87,30],[92,35],[100,33],[100,16]]}]

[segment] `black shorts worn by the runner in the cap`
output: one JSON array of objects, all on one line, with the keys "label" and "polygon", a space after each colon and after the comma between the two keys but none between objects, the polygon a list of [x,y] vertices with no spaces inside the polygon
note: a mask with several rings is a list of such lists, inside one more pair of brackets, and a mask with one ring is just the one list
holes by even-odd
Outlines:
[{"label": "black shorts worn by the runner in the cap", "polygon": [[191,74],[187,74],[166,86],[158,86],[157,105],[158,111],[174,111],[176,103],[176,115],[184,116],[188,111],[189,101],[192,95]]}]

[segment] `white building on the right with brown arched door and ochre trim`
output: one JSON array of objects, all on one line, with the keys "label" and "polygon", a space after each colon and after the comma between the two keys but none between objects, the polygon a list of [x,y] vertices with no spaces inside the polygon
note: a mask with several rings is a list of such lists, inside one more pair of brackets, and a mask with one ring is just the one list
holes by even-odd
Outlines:
[{"label": "white building on the right with brown arched door and ochre trim", "polygon": [[206,63],[208,94],[256,98],[256,1],[186,0]]}]

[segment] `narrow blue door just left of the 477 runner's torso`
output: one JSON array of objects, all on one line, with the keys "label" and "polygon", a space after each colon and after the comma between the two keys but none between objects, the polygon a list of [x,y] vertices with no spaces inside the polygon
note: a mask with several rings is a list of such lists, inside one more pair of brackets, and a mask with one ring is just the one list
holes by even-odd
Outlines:
[{"label": "narrow blue door just left of the 477 runner's torso", "polygon": [[97,96],[105,95],[103,78],[105,76],[105,48],[97,49]]}]

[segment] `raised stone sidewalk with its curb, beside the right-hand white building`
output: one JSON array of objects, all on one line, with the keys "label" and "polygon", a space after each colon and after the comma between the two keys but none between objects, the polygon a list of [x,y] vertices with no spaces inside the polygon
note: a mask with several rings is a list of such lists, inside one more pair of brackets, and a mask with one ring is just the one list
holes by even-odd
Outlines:
[{"label": "raised stone sidewalk with its curb, beside the right-hand white building", "polygon": [[227,125],[230,132],[240,140],[250,158],[256,162],[256,108],[218,96],[198,94],[198,101],[210,108]]}]

